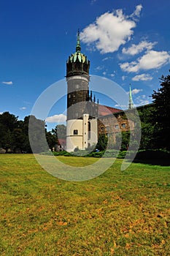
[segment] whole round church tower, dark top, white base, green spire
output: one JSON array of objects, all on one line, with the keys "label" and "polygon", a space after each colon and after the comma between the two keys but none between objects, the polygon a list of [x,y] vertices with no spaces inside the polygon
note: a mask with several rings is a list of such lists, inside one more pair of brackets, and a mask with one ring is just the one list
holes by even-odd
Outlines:
[{"label": "whole round church tower, dark top, white base, green spire", "polygon": [[97,105],[89,95],[89,69],[90,61],[81,53],[78,31],[76,52],[66,62],[66,151],[74,151],[75,148],[83,150],[97,142]]}]

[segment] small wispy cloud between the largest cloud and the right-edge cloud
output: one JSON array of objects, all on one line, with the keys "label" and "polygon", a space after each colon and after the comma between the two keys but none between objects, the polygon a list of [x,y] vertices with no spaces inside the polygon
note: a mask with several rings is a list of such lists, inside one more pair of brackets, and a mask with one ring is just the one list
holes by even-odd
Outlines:
[{"label": "small wispy cloud between the largest cloud and the right-edge cloud", "polygon": [[139,45],[131,45],[129,48],[123,48],[122,52],[129,55],[141,53],[143,50],[151,50],[157,42],[142,41]]}]

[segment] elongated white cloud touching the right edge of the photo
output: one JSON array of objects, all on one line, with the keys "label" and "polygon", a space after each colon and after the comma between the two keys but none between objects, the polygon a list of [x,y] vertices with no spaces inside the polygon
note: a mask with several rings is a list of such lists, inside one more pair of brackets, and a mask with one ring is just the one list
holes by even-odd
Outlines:
[{"label": "elongated white cloud touching the right edge of the photo", "polygon": [[164,64],[168,64],[170,55],[166,51],[149,50],[144,56],[136,61],[120,64],[120,68],[125,72],[138,72],[139,70],[159,69]]}]

